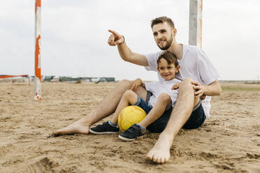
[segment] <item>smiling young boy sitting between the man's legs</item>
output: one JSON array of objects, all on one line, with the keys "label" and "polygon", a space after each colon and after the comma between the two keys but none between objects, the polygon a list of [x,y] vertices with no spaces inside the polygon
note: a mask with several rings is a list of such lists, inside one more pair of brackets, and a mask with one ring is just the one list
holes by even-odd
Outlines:
[{"label": "smiling young boy sitting between the man's legs", "polygon": [[[165,82],[145,82],[136,79],[131,84],[131,90],[124,92],[117,109],[115,110],[113,119],[104,122],[94,128],[90,133],[94,134],[113,134],[118,133],[117,128],[118,115],[124,107],[129,105],[137,105],[145,110],[147,116],[140,123],[133,124],[119,137],[122,140],[131,141],[136,137],[145,135],[146,128],[153,133],[161,133],[171,115],[171,110],[177,100],[178,90],[172,90],[174,84],[178,84],[180,80],[175,78],[180,66],[175,55],[171,52],[164,52],[157,60],[159,74],[164,78]],[[134,90],[138,87],[144,87],[147,90],[146,102],[138,96]]]}]

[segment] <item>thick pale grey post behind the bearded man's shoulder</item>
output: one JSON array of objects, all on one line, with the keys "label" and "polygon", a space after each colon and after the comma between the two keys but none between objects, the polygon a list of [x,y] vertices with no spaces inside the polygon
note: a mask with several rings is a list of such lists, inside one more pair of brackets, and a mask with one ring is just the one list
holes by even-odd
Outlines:
[{"label": "thick pale grey post behind the bearded man's shoulder", "polygon": [[189,45],[202,48],[202,1],[189,0]]}]

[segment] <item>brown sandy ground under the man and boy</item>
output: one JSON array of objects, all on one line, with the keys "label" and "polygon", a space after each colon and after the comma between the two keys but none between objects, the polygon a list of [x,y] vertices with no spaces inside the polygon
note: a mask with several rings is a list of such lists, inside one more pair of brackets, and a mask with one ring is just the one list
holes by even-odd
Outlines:
[{"label": "brown sandy ground under the man and boy", "polygon": [[[115,83],[0,83],[0,172],[260,172],[260,85],[223,84],[210,119],[181,130],[171,160],[145,160],[159,134],[47,136],[86,116]],[[107,120],[104,119],[103,121]]]}]

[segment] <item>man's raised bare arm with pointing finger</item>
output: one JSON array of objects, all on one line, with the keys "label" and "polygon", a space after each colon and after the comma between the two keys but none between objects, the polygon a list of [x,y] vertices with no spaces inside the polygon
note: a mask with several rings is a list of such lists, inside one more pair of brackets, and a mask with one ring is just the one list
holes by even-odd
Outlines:
[{"label": "man's raised bare arm with pointing finger", "polygon": [[137,54],[132,52],[125,43],[124,36],[120,35],[116,31],[108,30],[111,35],[108,38],[108,45],[117,45],[117,50],[120,53],[120,57],[124,61],[135,63],[139,66],[148,66],[146,57],[143,54]]}]

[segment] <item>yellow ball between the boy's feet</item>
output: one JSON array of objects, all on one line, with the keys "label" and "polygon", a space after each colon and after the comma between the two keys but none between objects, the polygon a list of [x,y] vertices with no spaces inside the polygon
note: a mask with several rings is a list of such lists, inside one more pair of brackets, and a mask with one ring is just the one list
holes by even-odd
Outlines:
[{"label": "yellow ball between the boy's feet", "polygon": [[145,111],[138,106],[128,106],[120,112],[118,116],[118,126],[124,132],[134,123],[140,123],[146,116]]}]

